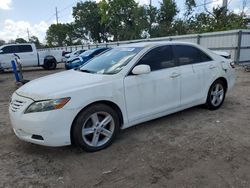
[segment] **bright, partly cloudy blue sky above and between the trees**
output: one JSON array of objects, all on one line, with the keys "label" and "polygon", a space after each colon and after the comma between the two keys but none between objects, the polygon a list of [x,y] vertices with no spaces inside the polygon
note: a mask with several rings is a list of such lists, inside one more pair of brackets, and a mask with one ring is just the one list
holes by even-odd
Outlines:
[{"label": "bright, partly cloudy blue sky above and between the trees", "polygon": [[[56,23],[56,7],[60,23],[72,22],[72,6],[79,0],[0,0],[0,39],[9,41],[18,37],[28,39],[29,35],[37,36],[41,42],[45,42],[48,27]],[[84,1],[84,0],[83,0]],[[98,0],[97,0],[98,1]],[[149,0],[136,0],[138,3],[149,4]],[[228,0],[229,9],[239,12],[242,9],[243,0]],[[159,6],[161,0],[152,0],[154,6]],[[176,0],[180,9],[180,15],[184,10],[185,0]],[[207,0],[211,2],[208,9],[222,4],[222,0]],[[197,5],[204,0],[196,0]],[[247,0],[246,11],[250,14],[250,0]],[[200,6],[198,11],[204,11]],[[27,32],[28,31],[28,32]]]}]

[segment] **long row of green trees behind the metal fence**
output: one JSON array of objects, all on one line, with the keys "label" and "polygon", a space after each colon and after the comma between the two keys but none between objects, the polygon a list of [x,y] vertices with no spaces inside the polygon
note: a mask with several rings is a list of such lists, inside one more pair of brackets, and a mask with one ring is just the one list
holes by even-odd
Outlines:
[{"label": "long row of green trees behind the metal fence", "polygon": [[[175,0],[161,0],[160,6],[140,6],[135,0],[78,2],[73,7],[74,22],[52,24],[46,35],[48,46],[133,40],[190,33],[246,28],[245,15],[220,7],[197,13],[196,1],[185,0],[185,13]],[[176,18],[177,17],[177,18]]]}]

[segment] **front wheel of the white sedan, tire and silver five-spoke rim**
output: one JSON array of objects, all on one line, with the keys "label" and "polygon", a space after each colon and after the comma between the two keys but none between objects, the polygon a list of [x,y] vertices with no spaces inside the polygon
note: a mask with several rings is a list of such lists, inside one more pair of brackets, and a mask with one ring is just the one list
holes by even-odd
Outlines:
[{"label": "front wheel of the white sedan, tire and silver five-spoke rim", "polygon": [[119,129],[117,113],[105,104],[95,104],[83,110],[76,118],[72,139],[74,144],[85,151],[95,152],[111,145]]}]

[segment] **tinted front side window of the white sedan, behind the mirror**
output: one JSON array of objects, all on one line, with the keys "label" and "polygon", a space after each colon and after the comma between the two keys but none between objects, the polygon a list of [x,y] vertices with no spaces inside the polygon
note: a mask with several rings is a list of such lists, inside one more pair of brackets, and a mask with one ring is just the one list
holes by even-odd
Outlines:
[{"label": "tinted front side window of the white sedan, behind the mirror", "polygon": [[172,56],[171,46],[161,46],[152,49],[142,59],[137,65],[146,64],[149,65],[151,71],[170,68],[176,66]]}]

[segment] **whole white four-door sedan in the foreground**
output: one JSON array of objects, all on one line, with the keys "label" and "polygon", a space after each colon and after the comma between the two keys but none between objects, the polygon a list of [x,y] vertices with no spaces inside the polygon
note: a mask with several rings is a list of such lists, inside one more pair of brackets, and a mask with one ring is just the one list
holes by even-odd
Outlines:
[{"label": "whole white four-door sedan in the foreground", "polygon": [[97,151],[119,129],[201,104],[216,110],[234,83],[231,61],[201,46],[134,43],[27,83],[12,95],[9,114],[22,140]]}]

